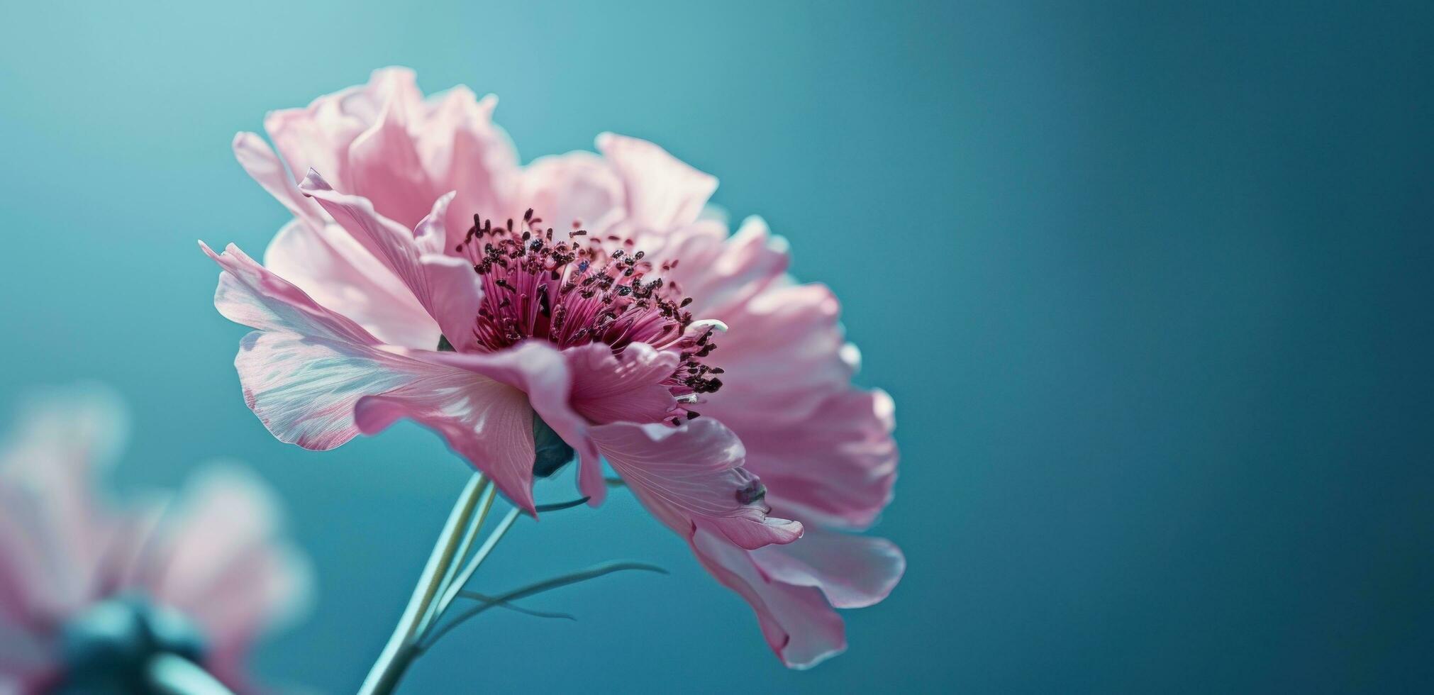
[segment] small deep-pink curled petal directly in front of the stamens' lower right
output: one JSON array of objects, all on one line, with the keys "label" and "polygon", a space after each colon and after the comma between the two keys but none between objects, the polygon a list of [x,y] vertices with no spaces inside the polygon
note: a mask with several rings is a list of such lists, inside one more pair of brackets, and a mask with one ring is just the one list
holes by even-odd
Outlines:
[{"label": "small deep-pink curled petal directly in front of the stamens' lower right", "polygon": [[589,342],[564,355],[572,370],[572,408],[594,423],[658,423],[677,408],[673,393],[663,385],[677,370],[674,353],[634,342],[619,360],[607,344]]}]

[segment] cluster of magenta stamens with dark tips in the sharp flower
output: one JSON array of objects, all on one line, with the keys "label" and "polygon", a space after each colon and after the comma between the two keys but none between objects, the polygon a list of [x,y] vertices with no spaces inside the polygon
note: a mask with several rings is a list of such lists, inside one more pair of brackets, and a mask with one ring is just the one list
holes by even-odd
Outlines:
[{"label": "cluster of magenta stamens with dark tips in the sharp flower", "polygon": [[[615,246],[615,248],[611,248]],[[519,225],[495,226],[473,215],[473,226],[455,248],[483,278],[483,302],[473,322],[479,351],[498,351],[529,338],[559,350],[604,342],[621,354],[632,342],[677,351],[681,364],[667,385],[681,403],[721,387],[723,370],[704,364],[717,348],[717,322],[693,321],[680,288],[661,277],[677,261],[654,268],[632,239],[589,235],[579,222],[556,238],[529,209]],[[695,327],[695,330],[693,330]],[[697,417],[688,411],[688,418]]]}]

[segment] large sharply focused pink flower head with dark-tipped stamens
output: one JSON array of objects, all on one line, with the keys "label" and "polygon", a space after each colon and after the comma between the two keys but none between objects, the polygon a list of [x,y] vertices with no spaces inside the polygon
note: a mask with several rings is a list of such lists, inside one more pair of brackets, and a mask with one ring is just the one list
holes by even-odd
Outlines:
[{"label": "large sharply focused pink flower head with dark-tipped stamens", "polygon": [[217,307],[257,328],[250,407],[307,449],[417,420],[526,510],[554,431],[582,493],[602,499],[605,459],[787,665],[840,652],[832,608],[882,600],[905,559],[840,533],[891,502],[896,447],[891,398],[850,383],[836,298],[784,274],[760,219],[704,215],[713,176],[611,133],[519,166],[495,103],[387,69],[271,113],[282,159],[235,138],[295,215],[264,265],[205,246]]}]

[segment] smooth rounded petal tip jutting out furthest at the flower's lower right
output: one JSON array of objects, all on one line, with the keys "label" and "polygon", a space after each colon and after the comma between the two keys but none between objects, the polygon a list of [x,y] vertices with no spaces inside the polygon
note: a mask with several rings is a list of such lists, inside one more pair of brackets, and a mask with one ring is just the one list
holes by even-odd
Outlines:
[{"label": "smooth rounded petal tip jutting out furthest at the flower's lower right", "polygon": [[886,539],[807,529],[802,540],[751,552],[773,582],[822,589],[835,608],[885,599],[906,572],[906,557]]}]

